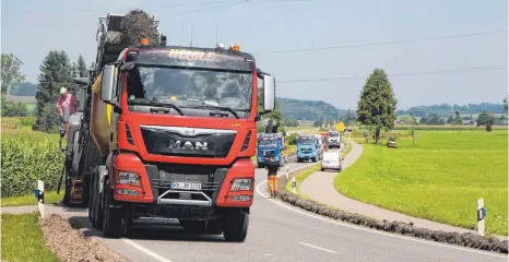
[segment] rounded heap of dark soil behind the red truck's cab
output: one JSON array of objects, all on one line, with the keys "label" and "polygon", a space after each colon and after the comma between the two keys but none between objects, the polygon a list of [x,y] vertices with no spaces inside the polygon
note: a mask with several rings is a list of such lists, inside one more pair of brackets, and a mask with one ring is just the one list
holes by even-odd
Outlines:
[{"label": "rounded heap of dark soil behind the red truck's cab", "polygon": [[150,44],[159,44],[159,33],[154,24],[154,17],[142,10],[130,11],[123,19],[120,29],[122,45],[138,46],[143,38],[147,38]]}]

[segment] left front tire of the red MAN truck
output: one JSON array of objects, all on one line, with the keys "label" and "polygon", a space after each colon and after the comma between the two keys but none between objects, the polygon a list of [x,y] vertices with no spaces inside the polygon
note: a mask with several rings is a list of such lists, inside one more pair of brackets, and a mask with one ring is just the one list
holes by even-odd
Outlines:
[{"label": "left front tire of the red MAN truck", "polygon": [[106,181],[103,192],[103,234],[107,238],[120,238],[128,234],[131,226],[130,211],[126,207],[110,207],[114,193],[107,188]]}]

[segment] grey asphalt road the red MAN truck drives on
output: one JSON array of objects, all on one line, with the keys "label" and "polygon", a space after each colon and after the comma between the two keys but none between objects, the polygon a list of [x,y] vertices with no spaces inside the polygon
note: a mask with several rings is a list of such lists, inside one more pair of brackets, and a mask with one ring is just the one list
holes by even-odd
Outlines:
[{"label": "grey asphalt road the red MAN truck drives on", "polygon": [[[288,164],[295,169],[309,164]],[[254,205],[244,243],[225,242],[221,236],[181,233],[178,223],[144,224],[129,238],[102,239],[130,261],[507,261],[505,254],[483,252],[398,235],[389,235],[317,216],[267,199],[267,171],[257,169]],[[78,214],[76,214],[78,215]],[[81,218],[88,234],[86,215]]]}]

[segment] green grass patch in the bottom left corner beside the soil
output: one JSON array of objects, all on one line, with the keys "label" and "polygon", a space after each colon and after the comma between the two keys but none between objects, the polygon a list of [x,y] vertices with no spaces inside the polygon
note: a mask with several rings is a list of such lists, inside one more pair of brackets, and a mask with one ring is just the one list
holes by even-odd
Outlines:
[{"label": "green grass patch in the bottom left corner beside the soil", "polygon": [[45,246],[36,212],[23,215],[2,214],[2,261],[56,262]]}]

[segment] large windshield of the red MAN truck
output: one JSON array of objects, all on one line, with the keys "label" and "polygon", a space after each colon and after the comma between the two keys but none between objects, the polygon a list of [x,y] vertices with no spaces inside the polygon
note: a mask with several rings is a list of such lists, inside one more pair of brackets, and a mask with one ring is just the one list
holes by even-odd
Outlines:
[{"label": "large windshield of the red MAN truck", "polygon": [[137,64],[127,72],[128,104],[157,102],[178,107],[216,106],[249,111],[252,74]]}]

